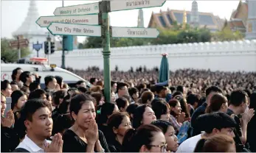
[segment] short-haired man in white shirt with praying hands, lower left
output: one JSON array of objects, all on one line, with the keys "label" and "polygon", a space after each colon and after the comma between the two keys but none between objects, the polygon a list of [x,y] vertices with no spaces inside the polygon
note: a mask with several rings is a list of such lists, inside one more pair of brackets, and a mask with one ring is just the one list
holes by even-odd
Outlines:
[{"label": "short-haired man in white shirt with praying hands, lower left", "polygon": [[21,109],[21,128],[27,135],[13,152],[62,152],[63,140],[58,133],[52,141],[52,110],[49,102],[42,99],[28,100]]}]

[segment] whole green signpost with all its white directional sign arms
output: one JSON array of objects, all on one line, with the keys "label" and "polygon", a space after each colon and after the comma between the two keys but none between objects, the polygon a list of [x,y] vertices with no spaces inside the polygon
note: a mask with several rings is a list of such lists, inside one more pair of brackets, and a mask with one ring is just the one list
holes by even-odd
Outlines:
[{"label": "whole green signpost with all its white directional sign arms", "polygon": [[[41,27],[48,26],[47,29],[52,35],[77,35],[103,38],[105,101],[111,102],[110,37],[157,38],[159,31],[151,28],[110,27],[108,13],[119,10],[161,7],[163,4],[165,4],[165,0],[100,1],[93,4],[58,7],[54,12],[55,16],[41,17],[36,22]],[[99,15],[89,15],[95,13],[99,13]]]}]

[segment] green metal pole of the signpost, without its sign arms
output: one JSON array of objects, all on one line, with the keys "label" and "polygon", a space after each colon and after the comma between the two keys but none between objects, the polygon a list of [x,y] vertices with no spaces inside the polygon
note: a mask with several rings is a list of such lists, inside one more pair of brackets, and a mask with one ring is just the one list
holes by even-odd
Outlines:
[{"label": "green metal pole of the signpost, without its sign arms", "polygon": [[109,7],[110,1],[102,1],[100,10],[102,12],[102,32],[103,32],[103,59],[104,59],[104,95],[105,101],[111,102],[111,73],[110,73],[110,34],[109,34]]}]

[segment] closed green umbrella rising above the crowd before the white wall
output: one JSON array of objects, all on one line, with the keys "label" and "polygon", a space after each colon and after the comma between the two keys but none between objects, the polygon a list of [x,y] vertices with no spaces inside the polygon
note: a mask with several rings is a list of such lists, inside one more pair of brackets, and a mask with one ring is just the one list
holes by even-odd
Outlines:
[{"label": "closed green umbrella rising above the crowd before the white wall", "polygon": [[159,71],[159,82],[165,82],[169,80],[169,63],[167,59],[167,54],[162,54],[162,61]]}]

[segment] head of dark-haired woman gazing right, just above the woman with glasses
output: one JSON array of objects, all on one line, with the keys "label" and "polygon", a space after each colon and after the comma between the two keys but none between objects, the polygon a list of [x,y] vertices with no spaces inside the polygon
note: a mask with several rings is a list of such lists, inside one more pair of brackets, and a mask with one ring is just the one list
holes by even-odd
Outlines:
[{"label": "head of dark-haired woman gazing right, just above the woman with glasses", "polygon": [[149,104],[142,104],[136,107],[133,120],[135,129],[141,125],[151,124],[152,121],[156,121],[156,115]]}]

